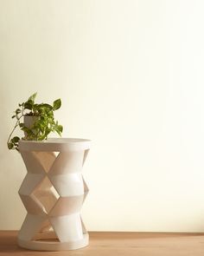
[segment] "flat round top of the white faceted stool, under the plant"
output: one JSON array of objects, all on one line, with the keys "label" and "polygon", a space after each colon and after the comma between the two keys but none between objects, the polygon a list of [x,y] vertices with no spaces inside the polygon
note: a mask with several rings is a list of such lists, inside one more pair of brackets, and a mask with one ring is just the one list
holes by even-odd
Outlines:
[{"label": "flat round top of the white faceted stool, under the plant", "polygon": [[91,141],[78,138],[50,138],[45,141],[19,141],[19,151],[79,151],[89,149]]}]

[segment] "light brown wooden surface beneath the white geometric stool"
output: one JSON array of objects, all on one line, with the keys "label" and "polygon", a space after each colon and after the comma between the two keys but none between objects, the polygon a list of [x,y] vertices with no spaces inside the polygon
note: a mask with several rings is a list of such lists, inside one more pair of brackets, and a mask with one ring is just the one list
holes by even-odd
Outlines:
[{"label": "light brown wooden surface beneath the white geometric stool", "polygon": [[0,231],[0,256],[203,256],[204,233],[90,232],[90,245],[75,251],[38,252],[16,245],[16,231]]}]

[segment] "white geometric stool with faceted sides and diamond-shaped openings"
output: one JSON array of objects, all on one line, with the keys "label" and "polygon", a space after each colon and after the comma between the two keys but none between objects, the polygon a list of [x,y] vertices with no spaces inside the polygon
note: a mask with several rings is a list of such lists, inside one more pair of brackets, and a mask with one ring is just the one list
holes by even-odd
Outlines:
[{"label": "white geometric stool with faceted sides and diamond-shaped openings", "polygon": [[18,245],[42,251],[74,250],[88,245],[80,208],[88,193],[81,169],[91,141],[19,141],[28,174],[19,194],[27,216]]}]

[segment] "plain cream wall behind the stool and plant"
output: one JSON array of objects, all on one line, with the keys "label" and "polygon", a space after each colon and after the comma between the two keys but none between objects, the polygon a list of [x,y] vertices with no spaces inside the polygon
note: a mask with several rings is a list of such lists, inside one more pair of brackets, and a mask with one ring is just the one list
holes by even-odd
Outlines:
[{"label": "plain cream wall behind the stool and plant", "polygon": [[89,230],[204,232],[202,0],[0,0],[0,229],[18,229],[18,102],[92,139]]}]

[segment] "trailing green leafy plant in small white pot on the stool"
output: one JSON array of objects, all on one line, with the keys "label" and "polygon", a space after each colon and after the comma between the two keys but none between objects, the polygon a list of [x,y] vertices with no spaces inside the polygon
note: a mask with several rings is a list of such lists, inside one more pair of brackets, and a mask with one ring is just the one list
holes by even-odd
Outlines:
[{"label": "trailing green leafy plant in small white pot on the stool", "polygon": [[18,149],[20,137],[12,135],[16,128],[20,128],[24,132],[22,140],[27,141],[43,141],[48,139],[51,132],[56,132],[61,136],[63,127],[54,120],[54,111],[61,108],[61,99],[55,100],[53,105],[48,103],[35,103],[37,93],[31,95],[26,102],[18,104],[15,115],[12,119],[16,119],[16,124],[12,129],[7,146],[9,149]]}]

